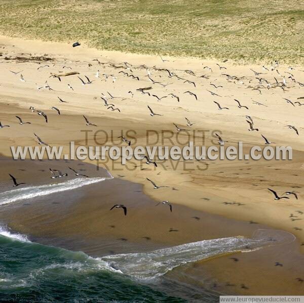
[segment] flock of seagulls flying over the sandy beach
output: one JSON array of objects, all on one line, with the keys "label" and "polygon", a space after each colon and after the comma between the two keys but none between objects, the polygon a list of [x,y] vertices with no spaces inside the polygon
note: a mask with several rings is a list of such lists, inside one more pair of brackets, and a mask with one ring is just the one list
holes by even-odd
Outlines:
[{"label": "flock of seagulls flying over the sandy beach", "polygon": [[[73,45],[73,47],[75,46],[79,46],[80,44],[77,45]],[[165,60],[162,57],[161,61],[162,63],[168,62],[169,60]],[[220,64],[216,63],[217,67],[210,67],[210,66],[204,66],[203,69],[204,71],[207,72],[207,74],[203,74],[203,75],[198,75],[196,72],[192,71],[192,70],[170,70],[167,68],[158,68],[156,66],[154,67],[147,67],[145,65],[140,65],[140,66],[133,66],[128,62],[123,62],[120,64],[113,64],[113,63],[102,63],[100,62],[98,59],[94,59],[93,61],[96,61],[98,64],[98,69],[96,74],[94,74],[93,76],[95,76],[96,79],[92,78],[90,79],[89,76],[87,75],[78,75],[78,72],[75,73],[71,73],[70,75],[74,74],[77,75],[77,78],[79,79],[79,84],[84,85],[86,88],[87,87],[92,87],[92,85],[95,85],[94,83],[96,83],[97,81],[105,81],[107,82],[108,79],[112,79],[111,82],[115,83],[118,79],[120,79],[119,77],[126,77],[128,79],[130,79],[131,81],[134,81],[134,83],[142,83],[144,82],[144,84],[141,86],[140,84],[138,86],[141,86],[140,88],[136,89],[136,90],[130,90],[128,88],[128,92],[126,92],[126,97],[125,98],[121,98],[121,97],[115,97],[115,93],[111,94],[109,92],[106,92],[106,94],[101,94],[100,96],[100,100],[102,100],[102,105],[104,105],[106,107],[107,110],[110,111],[115,111],[118,113],[123,112],[123,109],[118,108],[115,103],[117,99],[130,99],[130,100],[134,100],[134,96],[136,94],[140,94],[144,95],[146,98],[150,98],[151,100],[156,100],[157,104],[162,104],[163,100],[172,100],[172,102],[177,102],[180,103],[182,101],[184,101],[184,99],[187,99],[188,102],[201,102],[201,98],[199,96],[198,93],[196,93],[195,89],[198,88],[199,86],[201,86],[201,82],[202,80],[204,81],[209,81],[210,77],[212,76],[212,73],[214,71],[214,69],[218,69],[220,72],[225,72],[225,73],[221,73],[220,77],[223,77],[227,83],[232,83],[234,85],[243,85],[243,88],[246,89],[250,89],[253,91],[256,91],[256,94],[259,95],[263,95],[263,92],[269,91],[269,90],[275,90],[275,89],[280,89],[282,91],[282,94],[286,94],[284,96],[287,96],[287,92],[290,91],[291,88],[302,88],[304,87],[304,83],[301,83],[299,81],[297,81],[297,79],[294,77],[294,75],[290,72],[284,72],[284,73],[280,73],[278,68],[279,68],[279,64],[278,62],[275,63],[271,63],[271,66],[268,68],[267,66],[263,65],[261,67],[261,69],[263,70],[263,72],[259,72],[253,69],[249,69],[250,72],[253,73],[252,75],[244,75],[244,76],[236,76],[236,75],[232,75],[227,73],[228,72],[228,68],[225,66],[221,66]],[[92,63],[90,62],[86,62],[88,64],[88,67],[92,67]],[[113,71],[111,73],[102,73],[103,71],[102,68],[105,69],[106,66],[109,66]],[[46,70],[47,68],[50,68],[50,65],[43,65],[43,66],[39,66],[37,68],[37,71],[40,71],[41,69]],[[72,69],[72,67],[70,66],[66,66],[63,65],[61,67],[62,69]],[[119,70],[117,73],[115,72],[115,70]],[[290,69],[290,71],[294,70],[294,68]],[[139,72],[142,74],[142,71],[146,71],[146,74],[144,76],[141,76]],[[28,78],[24,77],[23,74],[24,70],[20,70],[20,71],[11,71],[14,75],[20,75],[20,81],[21,82],[26,82],[28,81]],[[23,72],[23,74],[22,74]],[[276,77],[273,76],[273,72],[276,73]],[[157,74],[161,73],[161,76],[158,75],[159,80],[157,78]],[[289,76],[286,77],[285,74],[288,74]],[[103,76],[104,78],[101,79],[101,76]],[[65,75],[51,75],[50,77],[54,77],[57,78],[60,83],[62,83],[63,85],[63,81],[61,81],[62,77],[65,77]],[[280,77],[280,78],[279,78]],[[274,80],[270,79],[270,78],[274,78]],[[181,90],[179,92],[177,92],[176,90],[170,90],[170,85],[173,84],[173,79],[176,81],[180,81],[180,84],[183,85],[187,85],[186,87],[189,88],[188,90]],[[279,79],[279,80],[278,80]],[[146,86],[145,81],[148,81],[149,84],[151,86]],[[215,82],[215,81],[213,81]],[[224,98],[223,97],[227,97],[224,96],[224,84],[219,85],[213,82],[209,82],[208,85],[212,86],[212,91],[206,89],[206,93],[208,93],[209,98],[211,98],[211,102],[212,104],[215,104],[215,109],[217,108],[220,111],[223,111],[223,113],[227,112],[229,113],[231,110],[231,106],[225,106],[223,104],[225,104],[223,101]],[[67,87],[68,89],[72,92],[74,92],[74,90],[77,90],[78,87],[73,84],[73,86],[71,86],[70,83],[67,83]],[[137,86],[137,87],[138,87]],[[210,86],[208,86],[208,88],[210,88]],[[161,94],[156,94],[156,93],[152,93],[154,92],[153,90],[155,88],[161,88],[163,90],[163,92]],[[49,84],[47,81],[45,81],[45,84],[42,86],[38,86],[37,85],[37,90],[41,91],[41,90],[48,90],[48,91],[55,91]],[[210,95],[209,95],[210,94]],[[299,97],[297,98],[298,100],[303,99],[304,97]],[[57,99],[59,101],[59,104],[64,104],[65,106],[70,106],[70,100],[66,101],[64,100],[65,98],[59,97],[57,96]],[[239,99],[239,100],[238,100]],[[248,123],[249,128],[248,131],[249,132],[259,132],[259,128],[256,127],[255,124],[255,120],[259,119],[258,117],[252,117],[250,115],[248,115],[247,113],[249,113],[249,111],[251,110],[251,107],[249,105],[249,103],[245,103],[244,100],[241,100],[241,98],[238,99],[233,99],[232,100],[232,106],[236,106],[236,108],[238,108],[238,110],[240,110],[241,115],[243,115],[244,113],[244,117],[245,117],[245,121]],[[240,101],[241,100],[241,101]],[[57,101],[57,102],[58,102]],[[290,108],[298,108],[302,105],[304,105],[304,103],[301,103],[300,101],[293,101],[291,100],[291,98],[283,98],[281,99],[282,102],[286,102],[286,104],[290,107]],[[234,103],[235,102],[235,103]],[[268,108],[270,107],[270,105],[268,104],[264,104],[265,102],[257,102],[252,100],[252,104],[253,105],[257,105],[257,106],[261,106],[262,108]],[[199,103],[197,103],[199,104]],[[245,105],[246,104],[246,105]],[[161,110],[159,110],[158,108],[156,110],[153,110],[152,107],[154,108],[155,105],[146,105],[147,106],[147,113],[151,116],[151,117],[156,117],[156,116],[164,116],[164,113],[161,112]],[[37,115],[41,116],[44,118],[45,123],[48,123],[48,116],[47,114],[39,109],[35,109],[33,106],[30,106],[30,111],[32,113],[36,113]],[[58,116],[61,115],[61,111],[59,108],[52,106],[51,109],[53,111],[55,111]],[[146,108],[145,108],[146,109]],[[16,118],[18,120],[18,123],[20,125],[25,125],[25,124],[31,124],[31,122],[28,121],[23,121],[22,118],[20,116],[16,115]],[[83,118],[85,120],[86,126],[97,126],[97,124],[92,123],[91,121],[89,121],[89,119],[87,118],[87,116],[85,116],[83,114]],[[156,118],[158,119],[158,118]],[[160,118],[161,119],[161,118]],[[179,125],[175,122],[172,122],[175,130],[177,132],[182,132],[182,131],[187,131],[188,129],[185,128],[187,127],[191,127],[193,126],[195,123],[191,122],[190,119],[188,119],[187,117],[184,117],[186,123],[185,126],[183,125]],[[244,121],[244,122],[245,122]],[[246,124],[246,123],[245,123]],[[5,127],[10,127],[10,125],[3,125],[0,122],[0,128],[5,128]],[[296,127],[293,125],[293,123],[288,123],[285,127],[288,127],[291,131],[293,131],[297,136],[300,135],[300,128]],[[39,136],[37,136],[35,133],[33,134],[34,137],[36,138],[37,142],[39,145],[45,145],[45,146],[49,146],[51,147],[48,143],[44,142]],[[222,138],[222,135],[220,136],[218,133],[215,134],[215,136],[218,139],[218,143],[219,144],[223,144],[225,141]],[[260,134],[261,138],[263,139],[263,143],[266,145],[270,145],[272,144],[271,141],[268,140],[268,138],[266,138],[264,135]],[[122,140],[122,142],[126,143],[128,146],[131,145],[131,140],[129,140],[126,136],[120,136],[118,137]],[[158,167],[157,162],[154,159],[150,159],[148,156],[143,156],[142,159],[145,161],[146,164],[153,164],[153,166],[155,168]],[[84,178],[89,178],[87,175],[83,175],[80,174],[77,170],[73,169],[72,167],[68,167],[71,171],[73,171],[75,176],[81,176]],[[50,173],[51,173],[51,178],[52,179],[58,179],[58,178],[65,178],[67,177],[67,173],[62,172],[60,170],[56,170],[56,169],[52,169],[50,168]],[[18,183],[16,181],[16,178],[14,176],[12,176],[10,174],[10,177],[13,181],[13,186],[17,187],[20,185],[24,185],[25,183]],[[160,188],[169,188],[169,186],[164,186],[164,185],[157,185],[153,180],[146,178],[146,180],[153,186],[153,189],[160,189]],[[177,190],[175,188],[172,188],[173,190]],[[275,200],[290,200],[290,197],[292,197],[292,199],[298,200],[299,196],[296,192],[293,191],[287,191],[284,192],[283,195],[279,195],[275,190],[268,188],[268,190],[273,194],[274,199]],[[229,202],[224,202],[226,204],[229,204]],[[156,205],[164,205],[166,207],[168,207],[170,209],[170,212],[172,212],[172,204],[168,201],[168,200],[163,200],[161,202],[158,202]],[[242,203],[236,203],[237,205],[245,205]],[[113,205],[110,210],[113,209],[117,209],[117,208],[121,208],[124,212],[124,215],[127,215],[127,206],[124,204],[115,204]],[[169,210],[168,209],[168,210]],[[298,210],[298,214],[300,214],[300,210]],[[303,212],[302,212],[303,214]],[[291,220],[295,221],[295,220],[301,220],[300,218],[297,218],[297,216],[295,216],[294,214],[291,214]],[[199,217],[193,217],[193,219],[195,220],[200,220]],[[257,224],[256,222],[250,221],[250,224]],[[296,230],[301,230],[299,228],[297,228]],[[176,231],[174,229],[171,229],[170,232]],[[234,262],[238,262],[239,259],[237,258],[232,258]],[[281,264],[276,264],[276,266],[282,266]],[[300,281],[300,280],[299,280]],[[247,289],[247,287],[245,285],[242,286],[242,288]]]}]

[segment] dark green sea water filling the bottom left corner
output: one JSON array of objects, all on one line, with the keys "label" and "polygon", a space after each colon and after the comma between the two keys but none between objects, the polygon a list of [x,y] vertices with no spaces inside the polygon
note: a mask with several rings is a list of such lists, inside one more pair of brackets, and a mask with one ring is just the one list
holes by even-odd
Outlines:
[{"label": "dark green sea water filling the bottom left corner", "polygon": [[0,301],[185,302],[113,272],[83,252],[0,235]]}]

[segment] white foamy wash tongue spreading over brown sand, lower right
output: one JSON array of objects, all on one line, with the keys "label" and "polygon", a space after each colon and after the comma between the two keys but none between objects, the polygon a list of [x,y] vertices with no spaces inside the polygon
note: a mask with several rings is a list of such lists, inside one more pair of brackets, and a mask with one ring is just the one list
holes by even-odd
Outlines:
[{"label": "white foamy wash tongue spreading over brown sand, lower right", "polygon": [[126,275],[137,279],[151,279],[189,262],[244,250],[246,247],[262,247],[267,242],[264,239],[230,237],[186,243],[146,253],[109,255],[99,259]]}]

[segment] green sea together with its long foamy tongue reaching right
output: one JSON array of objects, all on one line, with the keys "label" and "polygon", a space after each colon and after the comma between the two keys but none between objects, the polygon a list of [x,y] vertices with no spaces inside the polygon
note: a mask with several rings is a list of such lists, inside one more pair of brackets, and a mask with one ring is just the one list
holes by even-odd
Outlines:
[{"label": "green sea together with its long foamy tongue reaching right", "polygon": [[[84,252],[31,242],[0,228],[0,301],[217,302],[218,294],[165,279],[174,268],[214,255],[272,245],[269,231],[151,252],[93,258]],[[182,294],[181,296],[173,295]]]}]

